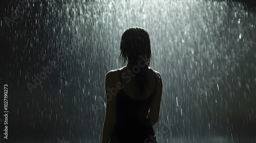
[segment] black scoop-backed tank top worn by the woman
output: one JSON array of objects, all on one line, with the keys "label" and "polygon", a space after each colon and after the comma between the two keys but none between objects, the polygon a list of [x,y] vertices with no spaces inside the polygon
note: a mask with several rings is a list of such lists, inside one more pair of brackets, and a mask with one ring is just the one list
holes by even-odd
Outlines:
[{"label": "black scoop-backed tank top worn by the woman", "polygon": [[[122,82],[121,72],[120,82]],[[156,79],[157,75],[155,73]],[[157,80],[156,80],[157,82]],[[124,91],[124,88],[116,94],[116,123],[111,136],[111,143],[114,142],[141,142],[144,143],[147,138],[153,136],[155,132],[148,121],[147,114],[150,105],[156,94],[155,89],[146,99],[133,99]]]}]

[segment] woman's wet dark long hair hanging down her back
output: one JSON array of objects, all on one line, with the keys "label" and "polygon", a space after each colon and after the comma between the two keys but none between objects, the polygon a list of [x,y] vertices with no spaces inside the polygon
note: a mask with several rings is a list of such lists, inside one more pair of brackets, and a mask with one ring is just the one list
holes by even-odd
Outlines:
[{"label": "woman's wet dark long hair hanging down her back", "polygon": [[123,32],[119,58],[123,64],[129,60],[127,67],[134,69],[132,73],[136,75],[133,86],[136,86],[141,96],[147,87],[147,69],[150,66],[151,56],[150,36],[145,29],[131,27]]}]

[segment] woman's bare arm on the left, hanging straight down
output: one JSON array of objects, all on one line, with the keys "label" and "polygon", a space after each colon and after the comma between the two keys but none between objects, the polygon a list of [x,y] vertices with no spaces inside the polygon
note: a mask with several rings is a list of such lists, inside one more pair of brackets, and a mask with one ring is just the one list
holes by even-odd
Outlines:
[{"label": "woman's bare arm on the left, hanging straight down", "polygon": [[[102,129],[101,143],[108,143],[116,122],[116,80],[114,71],[105,76],[106,110]],[[115,91],[115,92],[113,92]]]}]

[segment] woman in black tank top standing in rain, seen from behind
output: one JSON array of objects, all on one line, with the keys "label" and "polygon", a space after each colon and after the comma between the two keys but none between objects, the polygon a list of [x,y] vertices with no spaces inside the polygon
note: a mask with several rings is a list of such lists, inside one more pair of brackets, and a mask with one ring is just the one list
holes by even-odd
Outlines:
[{"label": "woman in black tank top standing in rain, seen from behind", "polygon": [[127,64],[105,75],[105,119],[101,143],[156,143],[152,128],[159,119],[160,73],[150,67],[150,36],[143,28],[124,31],[120,59]]}]

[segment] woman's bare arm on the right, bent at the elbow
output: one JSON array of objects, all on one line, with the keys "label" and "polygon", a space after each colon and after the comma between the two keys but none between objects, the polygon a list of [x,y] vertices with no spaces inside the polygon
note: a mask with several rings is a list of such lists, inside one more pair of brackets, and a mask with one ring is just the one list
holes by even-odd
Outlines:
[{"label": "woman's bare arm on the right, bent at the elbow", "polygon": [[151,103],[150,111],[147,114],[147,118],[150,121],[151,125],[154,126],[159,120],[160,106],[161,106],[161,98],[163,91],[163,83],[160,73],[157,72],[157,91],[156,95]]}]

